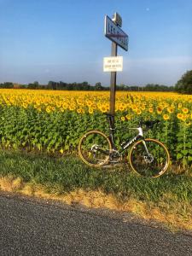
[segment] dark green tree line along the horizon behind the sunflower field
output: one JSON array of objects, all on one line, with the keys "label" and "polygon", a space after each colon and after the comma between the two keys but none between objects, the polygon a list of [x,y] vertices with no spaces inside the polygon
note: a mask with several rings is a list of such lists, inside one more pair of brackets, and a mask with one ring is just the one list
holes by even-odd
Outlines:
[{"label": "dark green tree line along the horizon behind the sunflower field", "polygon": [[[109,90],[109,87],[102,86],[101,82],[95,85],[90,85],[88,82],[83,83],[65,83],[49,81],[48,84],[39,84],[35,81],[31,84],[15,84],[5,82],[0,84],[1,88],[15,88],[15,89],[33,89],[33,90]],[[166,86],[163,84],[146,84],[145,86],[119,84],[116,90],[125,91],[177,91],[178,93],[192,94],[192,70],[183,74],[181,79],[177,81],[175,86]]]}]

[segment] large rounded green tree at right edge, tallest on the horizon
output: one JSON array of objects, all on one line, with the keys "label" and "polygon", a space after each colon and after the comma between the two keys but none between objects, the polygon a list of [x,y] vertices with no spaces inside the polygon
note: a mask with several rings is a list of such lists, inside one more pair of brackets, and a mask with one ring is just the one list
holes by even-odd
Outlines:
[{"label": "large rounded green tree at right edge, tallest on the horizon", "polygon": [[192,94],[192,70],[184,73],[182,78],[177,81],[175,90],[179,93]]}]

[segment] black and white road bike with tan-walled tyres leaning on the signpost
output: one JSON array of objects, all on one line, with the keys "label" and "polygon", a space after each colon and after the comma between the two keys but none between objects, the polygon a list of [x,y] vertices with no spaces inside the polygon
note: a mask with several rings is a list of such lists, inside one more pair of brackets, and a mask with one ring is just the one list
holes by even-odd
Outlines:
[{"label": "black and white road bike with tan-walled tyres leaning on the signpost", "polygon": [[[109,134],[102,131],[87,131],[79,141],[79,156],[89,166],[109,166],[119,163],[126,158],[131,169],[143,177],[160,177],[164,174],[170,163],[170,155],[163,143],[154,138],[143,136],[143,125],[146,130],[153,129],[160,120],[140,120],[138,127],[129,128],[137,130],[137,136],[126,139],[116,145],[114,143],[115,127],[114,115],[106,113]],[[129,154],[125,150],[131,146]],[[125,157],[126,156],[126,157]]]}]

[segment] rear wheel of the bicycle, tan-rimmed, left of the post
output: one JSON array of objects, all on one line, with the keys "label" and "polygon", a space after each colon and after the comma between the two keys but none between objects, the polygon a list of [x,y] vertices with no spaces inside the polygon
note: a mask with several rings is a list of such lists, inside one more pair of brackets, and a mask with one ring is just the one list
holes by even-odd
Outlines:
[{"label": "rear wheel of the bicycle, tan-rimmed, left of the post", "polygon": [[79,141],[79,156],[89,166],[108,163],[112,145],[102,131],[88,131]]}]

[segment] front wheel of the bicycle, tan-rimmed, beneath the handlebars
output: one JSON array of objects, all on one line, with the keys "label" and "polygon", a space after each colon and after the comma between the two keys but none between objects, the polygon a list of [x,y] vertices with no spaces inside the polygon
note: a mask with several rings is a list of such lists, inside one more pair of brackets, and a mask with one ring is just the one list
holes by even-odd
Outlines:
[{"label": "front wheel of the bicycle, tan-rimmed, beneath the handlebars", "polygon": [[144,177],[160,177],[166,172],[169,162],[166,146],[155,139],[138,141],[130,151],[131,168]]}]

